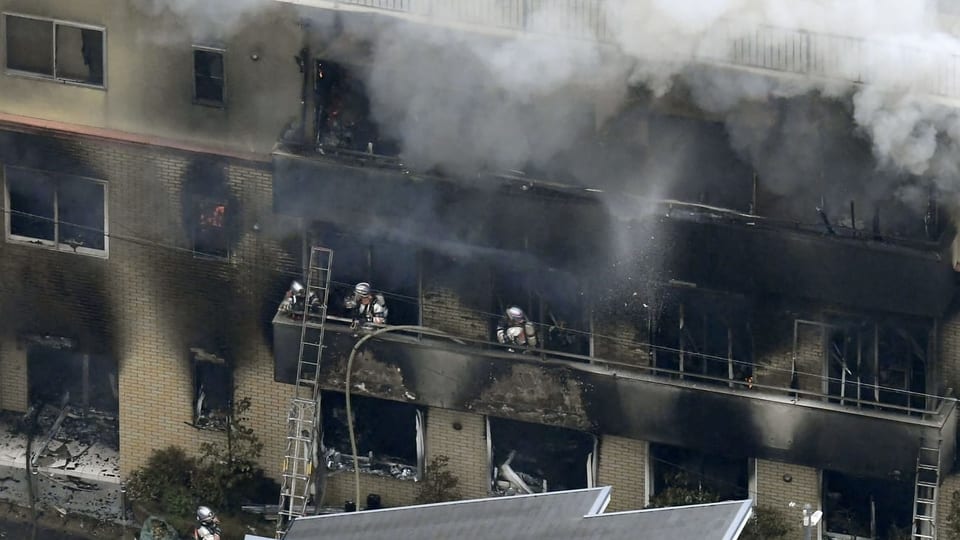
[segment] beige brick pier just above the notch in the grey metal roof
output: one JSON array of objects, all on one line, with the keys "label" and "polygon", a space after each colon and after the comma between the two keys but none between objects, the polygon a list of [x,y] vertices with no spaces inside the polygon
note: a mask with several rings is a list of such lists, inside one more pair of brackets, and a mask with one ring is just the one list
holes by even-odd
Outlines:
[{"label": "beige brick pier just above the notch in the grey metal roof", "polygon": [[644,507],[648,449],[646,441],[610,435],[600,438],[597,485],[613,487],[607,511]]}]

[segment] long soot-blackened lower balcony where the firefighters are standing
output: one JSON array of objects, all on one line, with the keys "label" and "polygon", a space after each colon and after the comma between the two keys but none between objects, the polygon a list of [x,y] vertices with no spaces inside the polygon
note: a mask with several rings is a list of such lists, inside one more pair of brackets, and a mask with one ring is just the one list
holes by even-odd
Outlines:
[{"label": "long soot-blackened lower balcony where the firefighters are standing", "polygon": [[[292,383],[301,324],[278,313],[273,328],[275,378]],[[316,331],[308,324],[307,339]],[[324,389],[345,389],[357,338],[343,319],[328,320]],[[404,332],[369,340],[351,380],[357,395],[868,477],[913,474],[924,438],[942,439],[944,466],[954,462],[956,407],[949,397],[907,400],[920,407],[853,398],[841,405],[816,392],[559,352],[510,353],[482,341]]]}]

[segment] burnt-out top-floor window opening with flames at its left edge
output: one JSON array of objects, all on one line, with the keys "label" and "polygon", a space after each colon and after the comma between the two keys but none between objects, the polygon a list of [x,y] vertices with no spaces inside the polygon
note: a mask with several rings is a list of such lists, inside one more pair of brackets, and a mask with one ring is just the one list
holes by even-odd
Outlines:
[{"label": "burnt-out top-floor window opening with flames at its left edge", "polygon": [[321,152],[352,150],[396,155],[399,148],[380,136],[370,112],[363,81],[351,68],[337,62],[314,62],[314,122],[316,145]]}]

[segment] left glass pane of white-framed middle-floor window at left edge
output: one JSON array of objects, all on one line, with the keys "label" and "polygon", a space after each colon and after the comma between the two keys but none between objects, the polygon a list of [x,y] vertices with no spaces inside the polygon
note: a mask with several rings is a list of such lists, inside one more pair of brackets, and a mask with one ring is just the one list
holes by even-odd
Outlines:
[{"label": "left glass pane of white-framed middle-floor window at left edge", "polygon": [[53,241],[53,180],[39,171],[16,168],[7,168],[6,176],[10,234]]}]

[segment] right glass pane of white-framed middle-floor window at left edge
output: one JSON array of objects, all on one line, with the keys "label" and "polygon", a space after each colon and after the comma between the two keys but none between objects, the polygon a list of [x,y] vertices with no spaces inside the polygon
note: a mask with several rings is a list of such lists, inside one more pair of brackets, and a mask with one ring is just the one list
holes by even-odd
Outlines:
[{"label": "right glass pane of white-framed middle-floor window at left edge", "polygon": [[104,188],[91,180],[63,177],[57,204],[60,243],[72,247],[104,248]]}]

